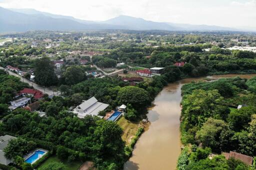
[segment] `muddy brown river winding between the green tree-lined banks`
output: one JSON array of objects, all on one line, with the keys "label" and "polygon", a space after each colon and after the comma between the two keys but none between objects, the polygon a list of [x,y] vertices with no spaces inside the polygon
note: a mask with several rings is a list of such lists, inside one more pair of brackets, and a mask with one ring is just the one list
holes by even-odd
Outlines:
[{"label": "muddy brown river winding between the green tree-lined banks", "polygon": [[[207,78],[224,78],[250,75],[218,75]],[[205,77],[202,77],[205,78]],[[179,116],[181,87],[183,84],[202,78],[188,78],[168,84],[154,99],[154,107],[147,114],[151,122],[137,141],[132,157],[124,164],[124,170],[175,170],[180,154]]]}]

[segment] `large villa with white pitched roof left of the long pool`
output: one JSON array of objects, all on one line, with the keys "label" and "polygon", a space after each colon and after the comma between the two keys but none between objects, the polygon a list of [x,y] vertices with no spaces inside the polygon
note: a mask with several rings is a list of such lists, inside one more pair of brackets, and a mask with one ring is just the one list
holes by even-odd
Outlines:
[{"label": "large villa with white pitched roof left of the long pool", "polygon": [[83,118],[86,115],[97,116],[98,112],[105,110],[109,105],[98,102],[95,97],[83,101],[79,106],[73,110],[78,118]]}]

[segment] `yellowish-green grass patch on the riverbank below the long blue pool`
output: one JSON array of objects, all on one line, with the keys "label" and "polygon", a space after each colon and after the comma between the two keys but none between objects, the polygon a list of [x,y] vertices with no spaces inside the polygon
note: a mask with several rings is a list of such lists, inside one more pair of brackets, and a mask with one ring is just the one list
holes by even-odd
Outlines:
[{"label": "yellowish-green grass patch on the riverbank below the long blue pool", "polygon": [[139,128],[139,122],[130,122],[124,117],[121,117],[117,121],[117,124],[123,129],[122,140],[125,141],[126,145],[129,145]]}]

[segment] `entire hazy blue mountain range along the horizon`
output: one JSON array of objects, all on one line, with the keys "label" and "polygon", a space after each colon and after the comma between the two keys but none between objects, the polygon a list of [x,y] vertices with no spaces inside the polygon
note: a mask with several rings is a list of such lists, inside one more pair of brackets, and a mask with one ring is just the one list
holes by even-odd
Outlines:
[{"label": "entire hazy blue mountain range along the horizon", "polygon": [[88,21],[72,16],[41,12],[35,9],[6,9],[0,7],[0,32],[28,30],[168,30],[168,31],[238,31],[239,29],[215,25],[192,25],[154,22],[142,18],[120,15],[105,21]]}]

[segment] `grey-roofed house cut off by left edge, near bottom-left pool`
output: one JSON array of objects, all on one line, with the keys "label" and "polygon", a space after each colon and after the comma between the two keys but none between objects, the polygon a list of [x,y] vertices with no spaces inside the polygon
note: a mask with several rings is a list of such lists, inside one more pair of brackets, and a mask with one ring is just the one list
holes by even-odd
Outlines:
[{"label": "grey-roofed house cut off by left edge, near bottom-left pool", "polygon": [[16,139],[13,136],[4,135],[0,136],[0,164],[7,166],[8,164],[12,163],[11,160],[4,157],[4,148],[7,147],[10,140]]}]

